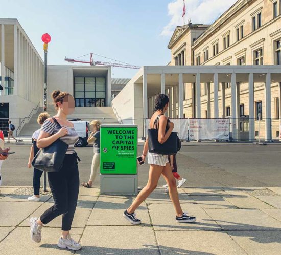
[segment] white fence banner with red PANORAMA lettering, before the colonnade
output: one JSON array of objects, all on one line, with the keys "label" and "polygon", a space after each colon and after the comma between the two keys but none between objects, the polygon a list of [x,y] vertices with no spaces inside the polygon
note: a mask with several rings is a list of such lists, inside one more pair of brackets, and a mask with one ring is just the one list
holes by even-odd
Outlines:
[{"label": "white fence banner with red PANORAMA lettering, before the colonnade", "polygon": [[229,139],[229,119],[189,119],[189,140]]}]

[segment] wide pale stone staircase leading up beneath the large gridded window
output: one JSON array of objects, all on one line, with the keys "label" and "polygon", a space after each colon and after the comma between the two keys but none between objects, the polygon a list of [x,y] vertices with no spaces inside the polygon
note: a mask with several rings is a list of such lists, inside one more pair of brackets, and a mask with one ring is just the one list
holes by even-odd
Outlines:
[{"label": "wide pale stone staircase leading up beneath the large gridded window", "polygon": [[[24,128],[20,132],[22,137],[31,137],[40,128],[40,125],[37,123],[37,117],[42,111],[43,108],[40,107],[37,113],[31,117],[29,123],[24,125]],[[54,116],[56,111],[50,106],[48,113]],[[81,119],[89,122],[99,120],[102,124],[119,124],[112,107],[77,107],[75,108],[75,112],[68,116],[68,119]]]}]

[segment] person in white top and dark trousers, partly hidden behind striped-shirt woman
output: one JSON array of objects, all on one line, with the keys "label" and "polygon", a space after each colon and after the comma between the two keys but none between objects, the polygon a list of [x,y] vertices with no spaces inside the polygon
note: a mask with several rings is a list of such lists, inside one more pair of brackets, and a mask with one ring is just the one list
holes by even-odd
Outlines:
[{"label": "person in white top and dark trousers, partly hidden behind striped-shirt woman", "polygon": [[[50,118],[50,115],[47,112],[40,113],[37,122],[39,125],[43,125],[46,119]],[[37,147],[37,139],[39,137],[41,128],[37,129],[33,135],[32,135],[32,146],[30,148],[30,155],[28,160],[28,168],[31,169],[31,163],[37,152],[39,151],[39,148]],[[33,169],[33,190],[34,193],[31,197],[28,197],[29,201],[40,201],[40,178],[43,174],[43,171],[34,168]]]}]

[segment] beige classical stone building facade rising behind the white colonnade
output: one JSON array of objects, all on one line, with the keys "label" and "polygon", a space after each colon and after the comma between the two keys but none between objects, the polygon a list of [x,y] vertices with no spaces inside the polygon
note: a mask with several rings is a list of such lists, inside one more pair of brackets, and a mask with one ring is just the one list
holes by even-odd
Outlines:
[{"label": "beige classical stone building facade rising behind the white colonnade", "polygon": [[[281,65],[281,1],[280,0],[239,0],[223,13],[212,25],[192,24],[179,26],[170,40],[171,50],[169,65],[195,66],[266,66]],[[281,68],[281,66],[280,66]],[[259,135],[257,119],[261,117],[262,137],[266,136],[266,118],[270,118],[272,138],[279,138],[280,82],[271,78],[271,109],[266,113],[265,82],[261,77],[253,76],[253,102],[249,101],[249,82],[236,79],[235,88],[230,82],[220,82],[218,98],[214,96],[214,80],[201,82],[200,91],[195,83],[185,83],[183,89],[183,117],[214,118],[214,100],[218,100],[218,117],[233,115],[231,95],[236,90],[237,118],[241,132],[249,132],[249,120],[254,120],[255,138]],[[179,117],[178,89],[173,93],[168,86],[173,103],[170,117]],[[197,92],[197,93],[196,93]],[[251,93],[251,91],[250,91]],[[199,94],[197,99],[197,95]],[[200,112],[196,103],[201,104]],[[253,105],[249,105],[249,104]],[[197,107],[198,108],[198,107]],[[253,114],[250,113],[253,109]],[[268,120],[269,121],[269,120]],[[242,134],[242,133],[241,133]],[[245,138],[247,139],[247,137]]]}]

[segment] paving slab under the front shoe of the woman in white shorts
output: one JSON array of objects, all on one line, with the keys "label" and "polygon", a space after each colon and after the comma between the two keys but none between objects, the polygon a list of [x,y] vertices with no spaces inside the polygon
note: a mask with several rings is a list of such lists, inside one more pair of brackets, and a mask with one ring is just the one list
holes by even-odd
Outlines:
[{"label": "paving slab under the front shoe of the woman in white shorts", "polygon": [[195,216],[194,223],[177,223],[172,204],[151,204],[148,206],[155,230],[220,230],[221,227],[210,218],[198,204],[182,204],[183,211]]}]

